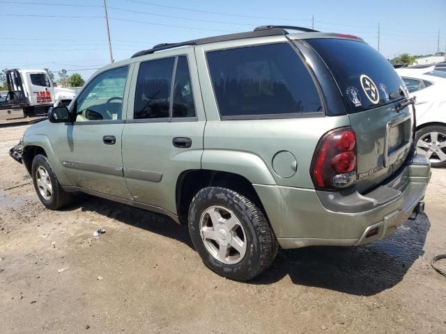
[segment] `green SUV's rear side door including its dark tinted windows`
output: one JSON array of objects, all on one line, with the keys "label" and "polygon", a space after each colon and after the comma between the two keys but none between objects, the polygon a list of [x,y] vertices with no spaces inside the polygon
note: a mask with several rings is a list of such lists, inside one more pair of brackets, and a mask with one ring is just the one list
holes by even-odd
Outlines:
[{"label": "green SUV's rear side door including its dark tinted windows", "polygon": [[125,181],[135,201],[176,214],[184,170],[201,168],[206,119],[193,49],[135,64],[123,131]]}]

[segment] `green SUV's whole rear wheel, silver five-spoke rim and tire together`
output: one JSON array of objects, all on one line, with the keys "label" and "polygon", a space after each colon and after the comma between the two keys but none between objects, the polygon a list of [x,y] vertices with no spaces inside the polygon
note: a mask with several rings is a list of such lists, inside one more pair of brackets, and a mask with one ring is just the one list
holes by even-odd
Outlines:
[{"label": "green SUV's whole rear wheel, silver five-spoke rim and tire together", "polygon": [[216,186],[194,196],[189,232],[204,264],[233,280],[258,276],[270,266],[279,248],[266,217],[253,202]]}]

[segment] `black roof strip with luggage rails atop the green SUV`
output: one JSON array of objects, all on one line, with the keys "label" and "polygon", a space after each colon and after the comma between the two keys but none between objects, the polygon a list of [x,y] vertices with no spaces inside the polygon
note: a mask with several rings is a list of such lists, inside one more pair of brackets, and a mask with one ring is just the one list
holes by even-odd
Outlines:
[{"label": "black roof strip with luggage rails atop the green SUV", "polygon": [[288,35],[288,31],[297,30],[303,31],[305,33],[318,33],[319,31],[303,28],[301,26],[258,26],[254,31],[248,31],[245,33],[231,33],[229,35],[219,35],[208,38],[200,38],[198,40],[189,40],[187,42],[179,42],[179,43],[163,43],[155,45],[152,49],[146,49],[137,52],[132,56],[132,58],[144,56],[146,54],[153,54],[156,51],[162,51],[166,49],[172,49],[174,47],[184,47],[186,45],[203,45],[213,42],[223,42],[226,40],[240,40],[243,38],[256,38],[256,37],[265,37],[265,36],[275,36],[275,35]]}]

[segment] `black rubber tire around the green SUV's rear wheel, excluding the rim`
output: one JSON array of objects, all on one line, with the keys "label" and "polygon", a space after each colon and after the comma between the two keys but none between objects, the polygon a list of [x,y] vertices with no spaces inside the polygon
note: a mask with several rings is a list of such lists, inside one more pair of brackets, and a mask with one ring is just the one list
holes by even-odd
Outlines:
[{"label": "black rubber tire around the green SUV's rear wheel, excluding the rim", "polygon": [[[213,206],[233,212],[245,231],[246,253],[236,264],[217,260],[206,249],[201,238],[201,215]],[[240,193],[217,186],[201,189],[192,199],[189,209],[189,232],[204,264],[220,276],[232,280],[245,281],[259,276],[270,267],[279,249],[277,239],[261,209]]]}]

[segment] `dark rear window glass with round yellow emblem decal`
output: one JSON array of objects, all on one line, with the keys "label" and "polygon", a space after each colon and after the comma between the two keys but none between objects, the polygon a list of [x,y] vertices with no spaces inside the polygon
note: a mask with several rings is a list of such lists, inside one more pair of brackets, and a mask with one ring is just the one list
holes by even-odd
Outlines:
[{"label": "dark rear window glass with round yellow emblem decal", "polygon": [[[307,40],[337,81],[350,113],[395,102],[403,81],[392,64],[370,45],[355,40]],[[394,96],[390,99],[391,93]]]}]

